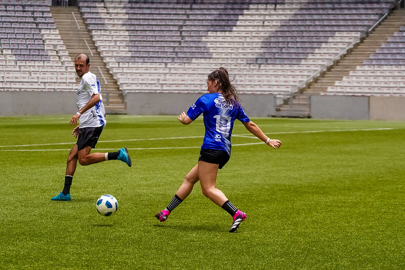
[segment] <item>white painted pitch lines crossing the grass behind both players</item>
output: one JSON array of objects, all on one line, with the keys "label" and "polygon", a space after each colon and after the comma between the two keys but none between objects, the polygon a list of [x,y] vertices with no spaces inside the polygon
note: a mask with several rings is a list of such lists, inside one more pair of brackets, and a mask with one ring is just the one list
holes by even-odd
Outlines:
[{"label": "white painted pitch lines crossing the grass behind both players", "polygon": [[[297,133],[320,133],[320,132],[344,132],[344,131],[376,131],[376,130],[392,130],[393,128],[377,128],[377,129],[337,129],[337,130],[309,130],[309,131],[289,131],[289,132],[272,132],[268,134],[297,134]],[[251,134],[233,134],[233,137],[243,137],[257,139]],[[125,140],[108,140],[99,141],[103,142],[121,142],[121,141],[153,141],[153,140],[175,140],[175,139],[190,139],[202,138],[202,136],[183,136],[183,137],[169,137],[169,138],[149,138],[149,139],[125,139]],[[236,143],[232,146],[253,145],[261,144],[263,142],[252,143]],[[47,146],[47,145],[74,145],[75,142],[62,142],[62,143],[40,143],[40,144],[20,144],[20,145],[0,145],[0,147],[26,147],[26,146]],[[128,148],[130,150],[154,150],[154,149],[186,149],[186,148],[200,148],[201,146],[179,146],[179,147],[147,147],[147,148]],[[95,148],[96,150],[117,150],[117,148]],[[66,151],[70,149],[0,149],[0,151]]]}]

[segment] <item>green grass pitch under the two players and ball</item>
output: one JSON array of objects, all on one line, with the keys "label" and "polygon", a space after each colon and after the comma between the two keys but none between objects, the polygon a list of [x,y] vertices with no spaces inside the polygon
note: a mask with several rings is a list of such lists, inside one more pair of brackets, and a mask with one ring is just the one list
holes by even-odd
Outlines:
[{"label": "green grass pitch under the two players and ball", "polygon": [[[274,150],[235,123],[217,187],[247,213],[192,194],[160,223],[196,164],[202,118],[109,115],[93,151],[120,161],[78,165],[71,202],[62,190],[76,142],[70,115],[0,118],[2,269],[404,269],[405,123],[253,118]],[[99,215],[103,194],[119,211]]]}]

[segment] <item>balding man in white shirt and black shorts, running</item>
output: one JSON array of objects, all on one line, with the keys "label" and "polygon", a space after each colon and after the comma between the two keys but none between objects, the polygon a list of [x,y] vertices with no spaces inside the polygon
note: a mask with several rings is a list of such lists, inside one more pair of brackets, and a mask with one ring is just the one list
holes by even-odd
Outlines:
[{"label": "balding man in white shirt and black shorts, running", "polygon": [[79,54],[75,57],[75,68],[80,80],[77,92],[78,112],[70,119],[73,129],[72,135],[78,138],[77,143],[70,150],[67,157],[65,184],[63,190],[52,198],[53,201],[70,201],[70,185],[75,174],[77,162],[80,165],[90,165],[106,160],[120,160],[131,167],[131,158],[126,147],[117,152],[90,153],[94,148],[105,126],[105,110],[100,94],[100,84],[97,76],[91,72],[89,57]]}]

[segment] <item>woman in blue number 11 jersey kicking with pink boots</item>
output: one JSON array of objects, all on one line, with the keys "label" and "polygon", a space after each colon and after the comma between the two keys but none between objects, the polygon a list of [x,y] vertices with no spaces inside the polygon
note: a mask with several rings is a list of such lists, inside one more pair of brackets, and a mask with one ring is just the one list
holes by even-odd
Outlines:
[{"label": "woman in blue number 11 jersey kicking with pink boots", "polygon": [[208,94],[201,96],[191,105],[187,114],[182,112],[177,118],[181,124],[189,125],[202,113],[204,117],[205,136],[201,146],[198,164],[186,175],[180,188],[170,204],[155,217],[165,221],[170,212],[185,200],[193,190],[194,184],[200,181],[201,189],[207,198],[222,207],[233,218],[230,233],[236,231],[246,214],[238,210],[216,188],[216,175],[229,161],[231,155],[231,134],[235,120],[243,123],[245,128],[267,145],[277,149],[279,140],[268,138],[263,131],[246,116],[236,92],[229,80],[228,70],[221,67],[214,70],[207,78]]}]

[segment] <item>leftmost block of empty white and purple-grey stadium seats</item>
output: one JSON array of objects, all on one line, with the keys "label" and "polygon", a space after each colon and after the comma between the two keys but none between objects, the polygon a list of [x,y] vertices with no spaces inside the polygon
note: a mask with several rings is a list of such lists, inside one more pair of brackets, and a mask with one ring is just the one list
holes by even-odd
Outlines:
[{"label": "leftmost block of empty white and purple-grey stadium seats", "polygon": [[76,88],[72,59],[47,1],[0,1],[0,90]]}]

